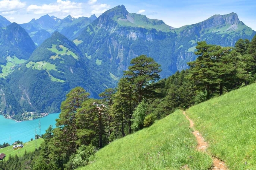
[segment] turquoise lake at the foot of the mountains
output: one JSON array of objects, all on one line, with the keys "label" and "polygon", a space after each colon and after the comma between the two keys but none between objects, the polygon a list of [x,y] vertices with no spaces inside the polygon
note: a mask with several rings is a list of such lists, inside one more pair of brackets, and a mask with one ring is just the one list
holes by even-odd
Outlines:
[{"label": "turquoise lake at the foot of the mountains", "polygon": [[12,143],[17,140],[28,142],[31,138],[35,139],[35,128],[38,133],[39,120],[41,122],[41,134],[44,134],[49,125],[55,127],[55,119],[58,118],[58,115],[59,113],[52,113],[43,118],[23,122],[5,119],[4,116],[0,115],[0,144],[3,142],[10,143],[10,136]]}]

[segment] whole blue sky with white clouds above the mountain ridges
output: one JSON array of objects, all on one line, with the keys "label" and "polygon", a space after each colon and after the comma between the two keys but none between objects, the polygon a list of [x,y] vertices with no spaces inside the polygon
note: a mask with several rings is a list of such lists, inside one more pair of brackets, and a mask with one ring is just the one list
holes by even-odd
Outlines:
[{"label": "whole blue sky with white clouds above the mountain ridges", "polygon": [[0,15],[16,23],[27,23],[45,14],[61,19],[69,14],[98,17],[118,5],[125,5],[130,13],[145,14],[175,28],[201,22],[214,14],[235,12],[241,21],[256,30],[255,0],[0,0]]}]

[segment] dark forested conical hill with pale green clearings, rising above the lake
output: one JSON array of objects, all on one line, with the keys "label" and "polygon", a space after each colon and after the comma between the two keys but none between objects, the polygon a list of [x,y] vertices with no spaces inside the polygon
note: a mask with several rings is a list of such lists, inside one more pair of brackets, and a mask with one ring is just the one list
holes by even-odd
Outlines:
[{"label": "dark forested conical hill with pale green clearings, rising above the lake", "polygon": [[66,94],[77,85],[90,91],[91,97],[104,91],[103,83],[107,87],[112,85],[97,72],[91,72],[87,58],[74,42],[58,32],[44,41],[6,81],[20,108],[37,113],[59,112]]}]

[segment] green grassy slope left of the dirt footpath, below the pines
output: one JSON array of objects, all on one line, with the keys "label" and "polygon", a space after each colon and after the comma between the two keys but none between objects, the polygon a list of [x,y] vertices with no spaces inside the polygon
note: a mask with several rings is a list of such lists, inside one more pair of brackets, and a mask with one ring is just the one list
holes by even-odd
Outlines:
[{"label": "green grassy slope left of the dirt footpath, below the pines", "polygon": [[182,111],[99,150],[80,170],[207,170],[212,160],[196,150],[196,139]]}]

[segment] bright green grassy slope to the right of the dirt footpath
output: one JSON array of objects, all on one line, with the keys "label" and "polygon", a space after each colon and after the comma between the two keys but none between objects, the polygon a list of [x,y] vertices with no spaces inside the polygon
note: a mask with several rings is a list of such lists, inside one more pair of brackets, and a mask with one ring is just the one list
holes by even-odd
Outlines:
[{"label": "bright green grassy slope to the right of the dirt footpath", "polygon": [[256,84],[189,108],[186,113],[230,170],[256,169]]}]

